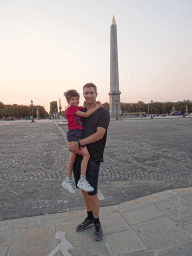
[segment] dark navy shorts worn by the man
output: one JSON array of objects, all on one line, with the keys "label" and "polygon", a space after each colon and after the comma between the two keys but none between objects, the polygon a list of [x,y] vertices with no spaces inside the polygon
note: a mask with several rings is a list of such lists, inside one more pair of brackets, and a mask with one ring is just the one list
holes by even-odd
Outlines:
[{"label": "dark navy shorts worn by the man", "polygon": [[[73,174],[75,177],[76,187],[81,175],[81,161],[82,157],[77,156],[73,165]],[[94,188],[94,191],[88,192],[90,196],[94,196],[97,194],[99,167],[100,163],[89,160],[86,171],[86,179],[89,184]]]}]

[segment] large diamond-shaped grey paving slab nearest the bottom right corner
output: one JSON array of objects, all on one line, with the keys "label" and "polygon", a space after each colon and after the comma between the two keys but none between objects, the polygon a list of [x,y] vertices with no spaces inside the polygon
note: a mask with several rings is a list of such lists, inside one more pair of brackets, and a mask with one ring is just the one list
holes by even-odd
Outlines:
[{"label": "large diamond-shaped grey paving slab nearest the bottom right corner", "polygon": [[132,227],[153,250],[166,249],[191,239],[187,232],[166,217],[135,224]]}]

